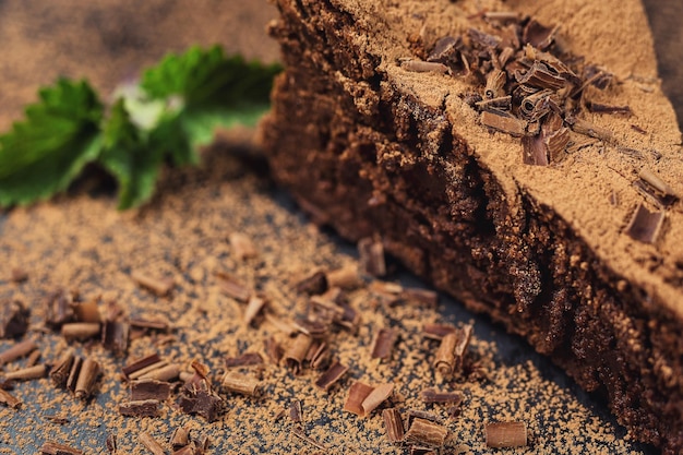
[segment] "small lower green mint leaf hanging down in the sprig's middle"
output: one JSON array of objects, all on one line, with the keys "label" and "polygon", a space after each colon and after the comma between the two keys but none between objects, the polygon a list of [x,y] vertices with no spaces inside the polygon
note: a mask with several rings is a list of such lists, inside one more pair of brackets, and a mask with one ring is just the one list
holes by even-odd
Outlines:
[{"label": "small lower green mint leaf hanging down in the sprig's middle", "polygon": [[152,197],[163,161],[163,151],[149,146],[131,121],[124,100],[119,98],[105,124],[98,160],[119,183],[119,209],[141,205]]}]

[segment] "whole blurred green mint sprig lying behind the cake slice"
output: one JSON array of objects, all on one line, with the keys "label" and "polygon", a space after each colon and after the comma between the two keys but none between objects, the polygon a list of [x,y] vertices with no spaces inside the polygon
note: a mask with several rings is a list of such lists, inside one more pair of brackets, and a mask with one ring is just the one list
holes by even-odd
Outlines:
[{"label": "whole blurred green mint sprig lying behind the cake slice", "polygon": [[164,163],[196,165],[216,128],[255,124],[278,71],[193,47],[121,86],[109,109],[87,82],[60,79],[0,135],[0,206],[49,199],[88,164],[116,178],[119,208],[144,204]]}]

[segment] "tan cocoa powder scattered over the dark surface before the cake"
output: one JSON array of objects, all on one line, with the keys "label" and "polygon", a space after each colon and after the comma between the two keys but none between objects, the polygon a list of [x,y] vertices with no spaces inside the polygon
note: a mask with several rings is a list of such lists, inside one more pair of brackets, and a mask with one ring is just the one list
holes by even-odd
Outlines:
[{"label": "tan cocoa powder scattered over the dark surface before the cake", "polygon": [[[307,360],[298,374],[284,361],[276,363],[264,339],[273,338],[285,348],[291,345],[293,338],[271,321],[291,322],[307,314],[310,297],[298,289],[300,277],[312,270],[329,272],[358,264],[225,149],[206,152],[201,170],[167,172],[159,197],[149,206],[119,213],[115,205],[112,195],[79,193],[14,209],[0,224],[3,266],[21,263],[32,271],[31,280],[0,282],[0,299],[31,302],[26,337],[36,340],[43,361],[57,364],[73,348],[76,356],[96,361],[101,371],[93,396],[83,400],[56,388],[50,378],[13,384],[10,393],[23,406],[0,407],[0,432],[12,435],[0,453],[37,452],[48,441],[104,453],[107,440],[116,435],[119,453],[145,454],[141,434],[169,452],[178,428],[187,430],[192,441],[209,441],[208,454],[311,453],[316,447],[310,441],[349,453],[409,453],[410,447],[395,445],[386,435],[382,410],[388,408],[404,418],[409,410],[435,415],[447,429],[444,450],[448,453],[486,452],[483,427],[495,421],[525,422],[534,453],[570,454],[576,447],[635,453],[616,436],[619,430],[579,404],[568,390],[544,379],[535,364],[502,362],[496,345],[480,338],[477,326],[462,371],[448,378],[435,374],[432,363],[439,340],[426,337],[423,327],[445,323],[464,327],[468,321],[445,318],[430,306],[381,304],[383,296],[376,289],[392,286],[372,286],[379,282],[369,277],[356,288],[334,294],[336,302],[359,314],[357,328],[331,325],[323,335],[332,358],[348,367],[346,374],[321,388],[315,381],[322,372]],[[252,239],[259,255],[236,255],[227,231]],[[141,289],[130,279],[136,270],[172,279],[173,291],[157,296]],[[245,324],[244,303],[221,290],[221,274],[233,276],[250,294],[263,295],[268,318]],[[110,351],[96,338],[67,342],[59,331],[44,328],[48,314],[43,302],[60,288],[77,290],[84,300],[100,296],[103,314],[106,302],[117,302],[121,321],[163,319],[170,328],[131,332],[124,352]],[[372,358],[373,346],[378,332],[388,326],[396,331],[397,342],[391,357],[380,362]],[[2,340],[0,351],[20,342]],[[129,403],[130,386],[122,368],[156,352],[168,364],[178,364],[180,378],[188,382],[171,380],[182,392],[176,387],[170,398],[159,402],[159,417],[123,416],[119,408]],[[264,361],[238,363],[230,371],[259,381],[262,393],[253,396],[220,387],[226,359],[247,354],[257,354]],[[26,361],[12,360],[4,371],[20,370]],[[202,375],[197,366],[203,367]],[[475,370],[483,374],[471,374]],[[184,391],[204,386],[203,375],[212,393],[226,404],[213,422],[183,414],[177,405]],[[344,411],[349,387],[358,381],[394,384],[391,396],[363,418]],[[429,387],[459,394],[459,415],[448,404],[424,403],[422,391]],[[295,400],[302,406],[301,429],[290,419],[273,420]],[[69,419],[56,424],[46,415]]]}]

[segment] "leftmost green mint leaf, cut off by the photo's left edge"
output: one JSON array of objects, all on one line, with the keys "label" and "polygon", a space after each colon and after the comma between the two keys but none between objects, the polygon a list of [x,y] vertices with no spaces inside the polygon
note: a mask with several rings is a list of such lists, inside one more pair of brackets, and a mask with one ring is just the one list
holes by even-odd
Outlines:
[{"label": "leftmost green mint leaf, cut off by the photo's left edge", "polygon": [[65,190],[99,154],[103,105],[85,82],[41,88],[26,119],[0,135],[0,205],[28,204]]}]

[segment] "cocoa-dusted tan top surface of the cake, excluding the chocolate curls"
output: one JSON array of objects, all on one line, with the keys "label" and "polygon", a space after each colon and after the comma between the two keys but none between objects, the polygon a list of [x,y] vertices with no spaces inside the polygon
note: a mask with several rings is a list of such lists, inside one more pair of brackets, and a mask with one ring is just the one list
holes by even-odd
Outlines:
[{"label": "cocoa-dusted tan top surface of the cake, excluding the chocolate curls", "polygon": [[[357,41],[369,55],[381,56],[378,71],[385,75],[384,83],[444,112],[455,125],[454,134],[464,137],[470,153],[495,173],[513,216],[516,201],[525,193],[551,206],[608,267],[642,287],[646,299],[683,316],[681,132],[660,88],[639,1],[416,0],[398,5],[390,0],[335,0],[333,4],[357,17]],[[514,17],[526,17],[522,26],[531,17],[554,41],[548,56],[525,49],[524,43],[517,55],[526,52],[529,60],[544,62],[562,53],[611,79],[606,84],[592,84],[596,77],[590,76],[575,82],[584,84],[576,97],[578,106],[572,115],[566,115],[568,109],[562,112],[568,143],[561,143],[556,156],[550,151],[541,159],[548,160],[543,166],[529,164],[534,157],[528,156],[528,144],[523,146],[529,135],[525,129],[539,128],[535,119],[516,122],[519,116],[510,115],[511,125],[490,128],[495,122],[490,115],[484,119],[487,109],[476,106],[487,98],[471,99],[472,94],[483,94],[486,79],[477,81],[471,68],[457,74],[453,67],[422,63],[429,57],[434,60],[445,37],[464,47],[476,47],[472,39],[486,41],[489,36],[504,40],[506,23]],[[472,31],[484,35],[472,37]],[[494,53],[500,57],[502,48],[498,46]],[[528,67],[522,68],[518,81],[529,72]],[[490,110],[495,121],[507,118]],[[519,124],[522,131],[516,131]],[[429,143],[421,147],[423,154],[430,153]],[[576,260],[577,264],[586,261]]]}]

